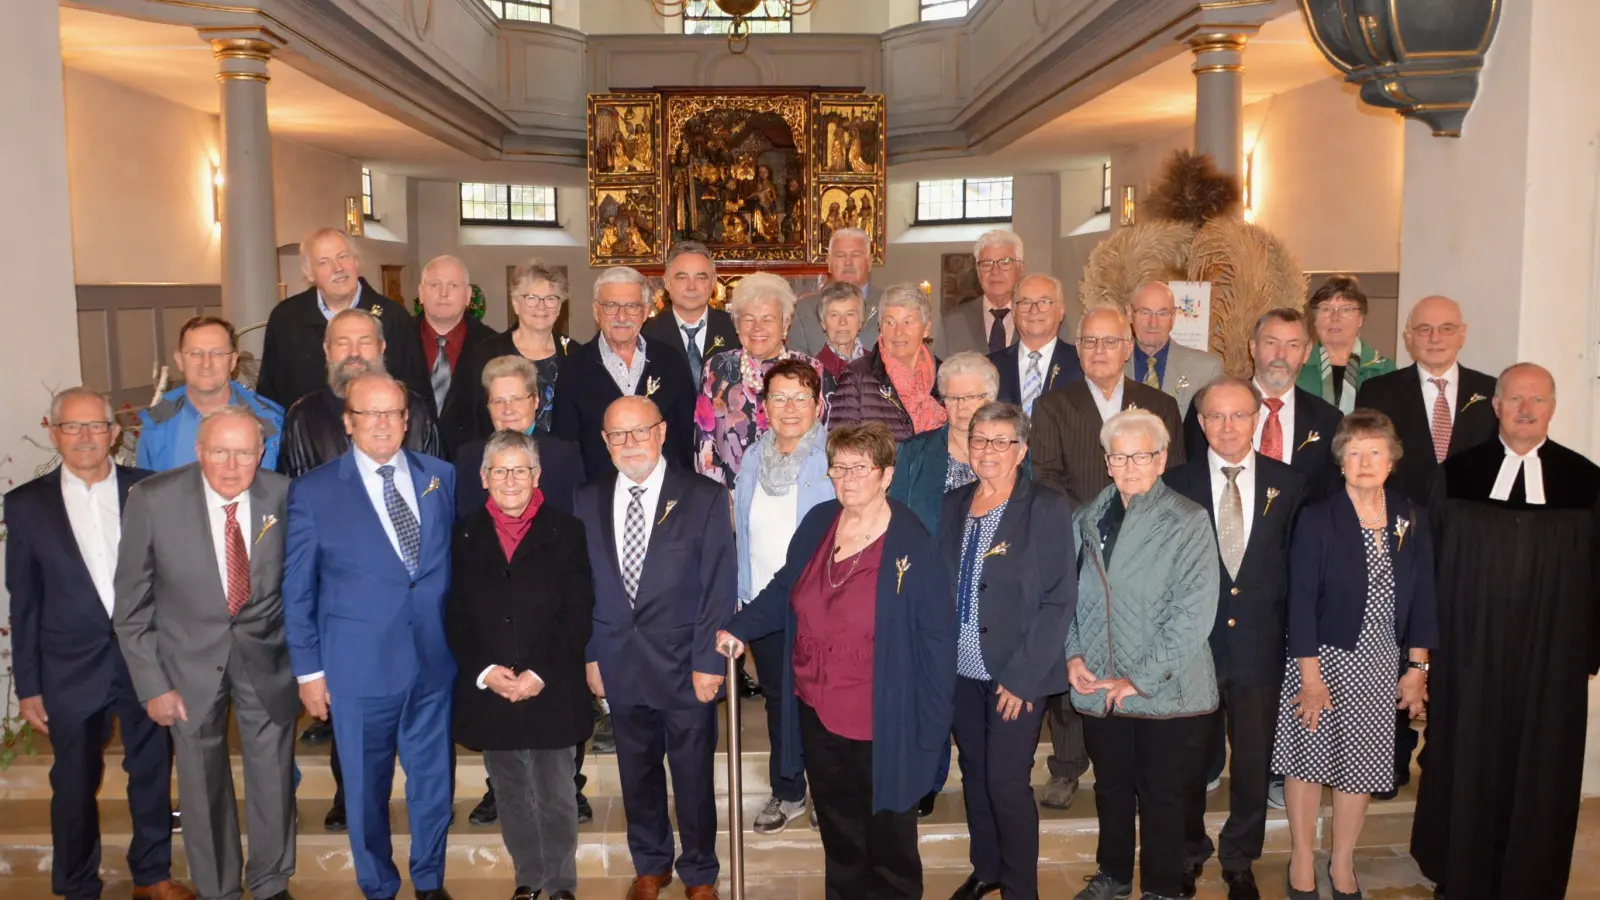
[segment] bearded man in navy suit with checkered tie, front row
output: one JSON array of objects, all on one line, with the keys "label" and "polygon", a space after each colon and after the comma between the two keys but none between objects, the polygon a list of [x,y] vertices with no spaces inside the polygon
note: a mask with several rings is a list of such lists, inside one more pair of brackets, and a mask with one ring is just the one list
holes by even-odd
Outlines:
[{"label": "bearded man in navy suit with checkered tie, front row", "polygon": [[669,469],[667,423],[646,397],[619,397],[600,436],[618,474],[578,492],[589,535],[595,623],[589,689],[611,703],[616,765],[637,878],[629,900],[672,882],[666,756],[672,767],[677,873],[688,900],[717,900],[717,629],[733,617],[738,564],[728,490]]}]

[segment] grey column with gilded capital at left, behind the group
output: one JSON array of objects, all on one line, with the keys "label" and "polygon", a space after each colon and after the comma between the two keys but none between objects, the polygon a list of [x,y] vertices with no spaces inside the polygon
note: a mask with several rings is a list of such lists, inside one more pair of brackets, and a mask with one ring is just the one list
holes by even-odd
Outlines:
[{"label": "grey column with gilded capital at left, behind the group", "polygon": [[272,138],[262,37],[210,38],[222,91],[222,314],[235,327],[266,322],[278,301],[272,215]]}]

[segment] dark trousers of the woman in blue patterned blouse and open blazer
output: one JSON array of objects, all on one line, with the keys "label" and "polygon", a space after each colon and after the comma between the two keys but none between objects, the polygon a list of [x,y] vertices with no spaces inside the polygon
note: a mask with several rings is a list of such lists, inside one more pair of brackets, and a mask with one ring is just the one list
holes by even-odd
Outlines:
[{"label": "dark trousers of the woman in blue patterned blouse and open blazer", "polygon": [[954,730],[973,874],[998,884],[1005,900],[1037,900],[1038,807],[1029,780],[1045,705],[1024,706],[1006,722],[997,703],[995,682],[955,679]]}]

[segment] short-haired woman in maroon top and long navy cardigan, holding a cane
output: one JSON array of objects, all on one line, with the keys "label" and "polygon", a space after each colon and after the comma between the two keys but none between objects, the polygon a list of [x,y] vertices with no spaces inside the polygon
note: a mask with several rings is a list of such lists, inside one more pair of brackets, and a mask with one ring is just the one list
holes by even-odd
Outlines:
[{"label": "short-haired woman in maroon top and long navy cardigan, holding a cane", "polygon": [[955,602],[933,536],[888,498],[888,428],[835,429],[827,461],[838,500],[811,508],[784,567],[717,645],[738,655],[784,634],[774,753],[811,781],[829,900],[920,898],[917,801],[949,753]]}]

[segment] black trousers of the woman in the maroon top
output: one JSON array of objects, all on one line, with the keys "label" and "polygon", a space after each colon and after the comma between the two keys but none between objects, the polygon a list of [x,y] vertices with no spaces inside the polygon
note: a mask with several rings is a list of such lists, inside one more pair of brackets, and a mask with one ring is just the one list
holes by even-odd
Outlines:
[{"label": "black trousers of the woman in the maroon top", "polygon": [[920,900],[917,810],[874,812],[872,741],[829,732],[800,703],[800,743],[822,833],[827,900]]}]

